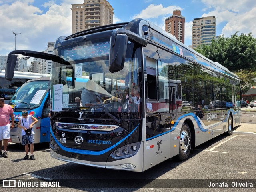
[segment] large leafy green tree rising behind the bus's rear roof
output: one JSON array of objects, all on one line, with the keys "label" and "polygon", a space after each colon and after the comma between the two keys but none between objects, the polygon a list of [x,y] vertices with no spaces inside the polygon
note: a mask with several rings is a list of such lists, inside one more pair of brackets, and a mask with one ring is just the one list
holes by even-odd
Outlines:
[{"label": "large leafy green tree rising behind the bus's rear roof", "polygon": [[240,36],[237,33],[231,38],[219,36],[212,40],[211,45],[202,44],[195,50],[233,72],[240,69],[256,70],[256,39],[251,33]]}]

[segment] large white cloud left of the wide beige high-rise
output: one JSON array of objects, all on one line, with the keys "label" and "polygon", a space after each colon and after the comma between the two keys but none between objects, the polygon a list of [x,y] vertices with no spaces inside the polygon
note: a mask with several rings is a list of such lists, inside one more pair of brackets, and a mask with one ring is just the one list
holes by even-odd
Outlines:
[{"label": "large white cloud left of the wide beige high-rise", "polygon": [[15,1],[11,5],[0,6],[1,53],[7,55],[14,50],[15,36],[12,31],[21,33],[16,36],[17,50],[36,51],[45,50],[48,41],[71,34],[70,0],[65,0],[61,5],[52,4],[44,14],[38,7],[31,5],[31,2]]}]

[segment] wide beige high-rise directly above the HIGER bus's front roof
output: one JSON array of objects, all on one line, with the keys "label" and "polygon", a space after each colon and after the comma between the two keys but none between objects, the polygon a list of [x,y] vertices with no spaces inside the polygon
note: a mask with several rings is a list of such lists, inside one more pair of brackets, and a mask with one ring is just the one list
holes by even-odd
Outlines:
[{"label": "wide beige high-rise directly above the HIGER bus's front roof", "polygon": [[88,28],[113,24],[113,8],[106,0],[84,0],[72,4],[72,34]]}]

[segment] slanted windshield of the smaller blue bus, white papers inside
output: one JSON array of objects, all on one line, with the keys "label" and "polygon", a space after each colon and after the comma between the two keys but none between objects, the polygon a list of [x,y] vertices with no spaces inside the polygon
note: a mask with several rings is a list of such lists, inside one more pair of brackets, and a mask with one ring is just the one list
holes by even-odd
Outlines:
[{"label": "slanted windshield of the smaller blue bus, white papers inside", "polygon": [[48,92],[50,81],[30,81],[24,83],[10,100],[14,109],[32,109],[40,106]]}]

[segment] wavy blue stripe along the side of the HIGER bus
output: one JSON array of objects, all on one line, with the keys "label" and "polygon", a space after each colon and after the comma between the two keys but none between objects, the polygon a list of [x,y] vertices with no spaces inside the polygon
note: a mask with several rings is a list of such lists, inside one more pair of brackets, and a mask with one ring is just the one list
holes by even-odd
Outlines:
[{"label": "wavy blue stripe along the side of the HIGER bus", "polygon": [[[232,112],[233,115],[236,114],[236,113],[238,113],[238,111],[234,112],[233,109],[228,110],[227,114],[228,114],[229,112]],[[194,120],[196,121],[196,124],[198,125],[198,127],[200,128],[200,130],[201,130],[202,132],[206,132],[206,131],[209,130],[209,129],[205,129],[205,128],[204,128],[204,126],[200,123],[200,121],[198,120],[197,116],[196,116],[194,113],[188,113],[188,114],[185,114],[185,115],[180,116],[180,117],[177,119],[177,121],[175,122],[174,126],[172,126],[172,128],[170,129],[170,131],[167,131],[167,132],[158,134],[158,135],[156,135],[156,136],[150,137],[150,138],[146,139],[146,141],[151,140],[151,139],[156,138],[156,137],[160,137],[160,136],[162,136],[162,135],[164,135],[164,134],[168,134],[168,133],[174,131],[174,130],[176,129],[176,126],[177,126],[178,123],[180,122],[180,120],[183,119],[183,118],[185,118],[185,117],[187,117],[187,116],[192,116],[192,117],[194,118]],[[211,126],[210,129],[211,129],[211,128],[214,128],[214,127],[216,127],[216,126],[218,126],[219,124],[222,124],[222,122],[226,122],[227,120],[228,120],[228,115],[226,116],[226,120],[221,121],[221,122],[219,122],[218,124],[215,124],[214,126]]]}]

